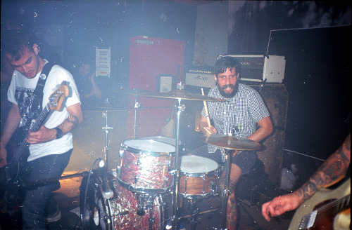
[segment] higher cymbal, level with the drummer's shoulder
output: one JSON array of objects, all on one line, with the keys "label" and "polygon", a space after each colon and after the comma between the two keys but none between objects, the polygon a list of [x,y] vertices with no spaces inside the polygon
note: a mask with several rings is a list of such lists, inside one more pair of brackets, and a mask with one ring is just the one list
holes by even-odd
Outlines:
[{"label": "higher cymbal, level with the drummer's shoulder", "polygon": [[168,99],[182,99],[182,100],[202,100],[202,101],[213,101],[213,102],[225,102],[220,98],[208,97],[198,94],[189,93],[187,90],[172,90],[168,93],[139,93],[142,97],[161,97]]}]

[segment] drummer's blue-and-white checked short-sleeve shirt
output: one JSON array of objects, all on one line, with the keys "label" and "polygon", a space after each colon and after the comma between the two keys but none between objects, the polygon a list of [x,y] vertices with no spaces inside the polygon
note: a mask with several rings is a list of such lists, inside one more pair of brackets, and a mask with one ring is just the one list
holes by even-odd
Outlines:
[{"label": "drummer's blue-and-white checked short-sleeve shirt", "polygon": [[[238,92],[232,98],[222,97],[218,86],[211,88],[208,96],[226,100],[226,102],[207,102],[210,119],[213,119],[218,134],[229,134],[234,127],[234,136],[249,137],[256,131],[257,122],[270,116],[258,91],[242,83],[239,83]],[[201,115],[206,117],[204,107]],[[208,144],[209,153],[214,153],[216,149],[220,147]],[[225,151],[222,148],[221,153],[222,161],[225,161]]]}]

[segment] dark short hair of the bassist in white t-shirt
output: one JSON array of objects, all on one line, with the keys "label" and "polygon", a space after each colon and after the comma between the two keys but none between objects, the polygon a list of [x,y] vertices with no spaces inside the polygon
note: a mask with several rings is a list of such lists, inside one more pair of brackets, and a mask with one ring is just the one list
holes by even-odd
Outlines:
[{"label": "dark short hair of the bassist in white t-shirt", "polygon": [[33,50],[34,37],[23,30],[9,29],[1,34],[1,55],[11,55],[20,60],[25,48]]}]

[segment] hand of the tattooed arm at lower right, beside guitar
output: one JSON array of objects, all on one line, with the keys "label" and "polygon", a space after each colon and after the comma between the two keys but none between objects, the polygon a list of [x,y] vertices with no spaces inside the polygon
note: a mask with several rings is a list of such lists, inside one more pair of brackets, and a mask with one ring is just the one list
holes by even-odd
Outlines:
[{"label": "hand of the tattooed arm at lower right, beside guitar", "polygon": [[277,196],[272,199],[272,201],[262,205],[262,215],[267,221],[270,221],[269,215],[272,217],[282,215],[284,212],[295,210],[301,203],[303,203],[303,201],[296,192],[285,196]]}]

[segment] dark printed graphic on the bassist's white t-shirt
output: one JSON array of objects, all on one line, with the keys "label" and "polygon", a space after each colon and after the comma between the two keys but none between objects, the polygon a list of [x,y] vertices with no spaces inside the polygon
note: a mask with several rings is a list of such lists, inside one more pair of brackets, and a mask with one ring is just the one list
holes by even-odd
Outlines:
[{"label": "dark printed graphic on the bassist's white t-shirt", "polygon": [[32,128],[40,112],[40,104],[37,100],[34,100],[34,90],[16,87],[15,100],[18,103],[21,116],[20,127]]}]

